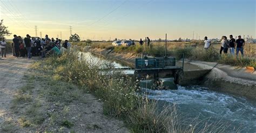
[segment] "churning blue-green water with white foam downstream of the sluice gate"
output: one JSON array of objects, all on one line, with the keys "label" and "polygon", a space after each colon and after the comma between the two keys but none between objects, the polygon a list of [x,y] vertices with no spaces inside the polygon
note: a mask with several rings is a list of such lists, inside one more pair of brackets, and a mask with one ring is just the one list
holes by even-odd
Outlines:
[{"label": "churning blue-green water with white foam downstream of the sluice gate", "polygon": [[233,122],[242,126],[242,132],[256,131],[256,107],[246,98],[214,92],[200,86],[182,87],[178,90],[142,89],[150,99],[175,103],[180,110],[193,116],[204,115],[216,120]]}]

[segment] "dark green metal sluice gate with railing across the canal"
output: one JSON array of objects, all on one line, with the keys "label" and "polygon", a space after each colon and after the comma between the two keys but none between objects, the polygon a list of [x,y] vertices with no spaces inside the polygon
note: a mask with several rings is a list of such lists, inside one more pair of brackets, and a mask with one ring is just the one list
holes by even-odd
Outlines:
[{"label": "dark green metal sluice gate with railing across the canal", "polygon": [[160,78],[174,78],[175,84],[180,84],[183,77],[184,54],[182,65],[178,66],[176,57],[150,57],[136,58],[134,74],[139,80],[153,79],[156,82]]}]

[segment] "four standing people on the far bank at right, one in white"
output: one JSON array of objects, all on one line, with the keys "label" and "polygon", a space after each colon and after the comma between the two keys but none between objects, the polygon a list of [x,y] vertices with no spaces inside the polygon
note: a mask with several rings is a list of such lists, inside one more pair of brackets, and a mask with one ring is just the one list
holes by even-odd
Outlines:
[{"label": "four standing people on the far bank at right, one in white", "polygon": [[[210,48],[211,46],[211,40],[209,40],[207,38],[207,36],[205,36],[205,49]],[[224,53],[225,55],[227,55],[228,53],[228,49],[230,49],[230,53],[231,55],[239,55],[239,51],[242,55],[242,57],[244,57],[244,46],[245,46],[245,40],[241,38],[241,35],[238,36],[238,39],[235,40],[233,38],[233,35],[230,35],[230,40],[227,40],[227,36],[222,36],[221,37],[221,42],[220,42],[220,54]],[[236,53],[235,53],[235,49],[236,49]]]}]

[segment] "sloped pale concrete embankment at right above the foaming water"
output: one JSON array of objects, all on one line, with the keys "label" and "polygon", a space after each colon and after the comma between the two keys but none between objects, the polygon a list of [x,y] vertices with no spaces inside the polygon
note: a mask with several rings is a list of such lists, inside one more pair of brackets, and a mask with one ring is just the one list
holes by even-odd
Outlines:
[{"label": "sloped pale concrete embankment at right above the foaming water", "polygon": [[189,61],[189,63],[212,69],[201,80],[201,85],[210,86],[216,91],[256,99],[256,72],[254,70],[201,61]]}]

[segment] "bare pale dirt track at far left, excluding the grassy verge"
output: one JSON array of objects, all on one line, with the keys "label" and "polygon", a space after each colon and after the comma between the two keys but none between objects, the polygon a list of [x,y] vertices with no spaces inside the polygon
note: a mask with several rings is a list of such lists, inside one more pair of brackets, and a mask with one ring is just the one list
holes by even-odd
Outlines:
[{"label": "bare pale dirt track at far left, excluding the grassy verge", "polygon": [[13,117],[9,110],[10,102],[17,88],[23,85],[24,73],[28,71],[29,65],[33,61],[26,58],[15,58],[11,55],[0,59],[0,123]]}]

